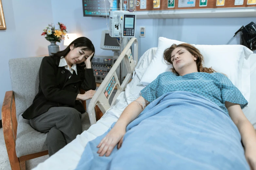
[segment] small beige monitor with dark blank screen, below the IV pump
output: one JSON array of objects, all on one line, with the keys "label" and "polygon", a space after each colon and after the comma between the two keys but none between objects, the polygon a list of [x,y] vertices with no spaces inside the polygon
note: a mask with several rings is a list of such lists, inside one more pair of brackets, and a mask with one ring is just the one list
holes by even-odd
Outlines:
[{"label": "small beige monitor with dark blank screen, below the IV pump", "polygon": [[103,50],[119,51],[120,45],[116,37],[109,35],[109,30],[104,30],[101,33],[100,48]]}]

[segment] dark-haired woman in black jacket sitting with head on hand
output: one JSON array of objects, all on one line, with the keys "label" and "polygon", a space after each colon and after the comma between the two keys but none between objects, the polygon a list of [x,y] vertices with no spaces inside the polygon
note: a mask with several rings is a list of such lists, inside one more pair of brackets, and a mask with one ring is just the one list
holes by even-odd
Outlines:
[{"label": "dark-haired woman in black jacket sitting with head on hand", "polygon": [[[22,114],[39,132],[49,132],[46,145],[49,156],[82,133],[78,100],[91,99],[96,82],[91,68],[94,45],[86,37],[75,39],[65,50],[43,58],[39,69],[39,92]],[[78,94],[79,89],[85,94]]]}]

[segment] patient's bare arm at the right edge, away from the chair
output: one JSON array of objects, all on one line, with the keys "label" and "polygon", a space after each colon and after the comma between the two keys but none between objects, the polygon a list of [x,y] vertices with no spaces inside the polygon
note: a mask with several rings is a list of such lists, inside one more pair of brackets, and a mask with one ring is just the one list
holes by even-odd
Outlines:
[{"label": "patient's bare arm at the right edge, away from the chair", "polygon": [[245,156],[251,169],[256,170],[256,133],[252,124],[245,117],[240,105],[225,102],[230,118],[237,126],[245,146]]}]

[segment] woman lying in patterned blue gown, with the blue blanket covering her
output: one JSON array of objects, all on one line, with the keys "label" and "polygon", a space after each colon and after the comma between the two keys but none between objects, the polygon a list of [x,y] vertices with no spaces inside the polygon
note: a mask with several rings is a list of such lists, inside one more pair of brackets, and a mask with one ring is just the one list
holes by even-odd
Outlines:
[{"label": "woman lying in patterned blue gown, with the blue blanket covering her", "polygon": [[87,144],[77,169],[256,169],[256,134],[241,92],[203,67],[190,44],[173,44],[164,59],[172,72],[160,74]]}]

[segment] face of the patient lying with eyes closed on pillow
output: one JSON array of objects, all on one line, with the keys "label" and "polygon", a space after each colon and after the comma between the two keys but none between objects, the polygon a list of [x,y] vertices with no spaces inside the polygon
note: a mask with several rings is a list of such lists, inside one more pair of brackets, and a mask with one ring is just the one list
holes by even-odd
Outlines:
[{"label": "face of the patient lying with eyes closed on pillow", "polygon": [[185,67],[190,67],[192,64],[196,65],[197,57],[193,56],[184,47],[177,47],[173,50],[171,61],[175,70],[179,73]]}]

